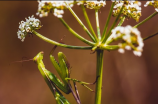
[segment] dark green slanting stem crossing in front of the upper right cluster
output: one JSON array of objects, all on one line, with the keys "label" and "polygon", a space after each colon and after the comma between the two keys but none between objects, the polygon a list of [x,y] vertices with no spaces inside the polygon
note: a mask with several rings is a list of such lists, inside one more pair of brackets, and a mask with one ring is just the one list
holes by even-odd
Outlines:
[{"label": "dark green slanting stem crossing in front of the upper right cluster", "polygon": [[105,36],[105,38],[102,39],[102,40],[103,40],[102,43],[105,43],[106,40],[108,39],[108,37],[110,36],[111,30],[114,28],[114,26],[116,25],[117,21],[119,20],[119,17],[120,17],[120,15],[122,14],[123,8],[124,8],[124,6],[122,6],[122,8],[121,8],[119,14],[117,15],[117,17],[116,17],[114,23],[112,24],[112,26],[111,26],[109,32],[107,33],[107,35]]}]

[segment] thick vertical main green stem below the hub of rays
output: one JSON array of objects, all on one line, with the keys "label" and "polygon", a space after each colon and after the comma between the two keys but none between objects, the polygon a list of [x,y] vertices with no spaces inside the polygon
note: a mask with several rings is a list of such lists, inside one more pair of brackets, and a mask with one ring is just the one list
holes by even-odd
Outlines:
[{"label": "thick vertical main green stem below the hub of rays", "polygon": [[95,92],[95,104],[101,104],[101,93],[102,93],[102,77],[103,77],[103,50],[97,50],[97,71],[96,77],[96,92]]}]

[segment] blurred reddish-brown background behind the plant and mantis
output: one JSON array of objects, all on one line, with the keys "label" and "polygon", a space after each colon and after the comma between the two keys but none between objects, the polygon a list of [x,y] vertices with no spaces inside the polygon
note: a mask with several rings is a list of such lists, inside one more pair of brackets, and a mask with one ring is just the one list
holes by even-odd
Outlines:
[{"label": "blurred reddish-brown background behind the plant and mantis", "polygon": [[[104,28],[111,2],[100,10],[101,31]],[[144,8],[140,21],[152,14],[153,7]],[[24,42],[17,38],[19,22],[35,15],[37,1],[0,1],[0,104],[55,104],[54,97],[33,61],[13,63],[22,58],[31,59],[38,52],[44,51],[46,68],[57,75],[49,60],[49,52],[53,45],[44,42],[35,35],[27,36]],[[74,6],[73,10],[87,26],[82,10]],[[94,10],[88,15],[95,28]],[[37,16],[36,16],[37,17]],[[37,17],[39,18],[39,17]],[[115,18],[111,18],[110,26]],[[38,32],[55,41],[66,35],[64,42],[69,45],[86,45],[80,42],[53,15],[40,18],[43,27]],[[86,39],[90,38],[77,23],[71,13],[66,10],[64,20]],[[133,19],[123,24],[134,26]],[[158,32],[158,15],[138,28],[142,37]],[[95,29],[96,30],[96,29]],[[158,104],[158,36],[144,42],[141,57],[132,51],[120,54],[118,51],[104,52],[104,74],[102,88],[102,104]],[[71,64],[71,78],[85,82],[94,82],[96,77],[96,54],[90,50],[73,50],[58,47],[54,56],[62,51]],[[58,76],[58,75],[57,75]],[[93,104],[95,93],[77,84],[82,104]],[[90,86],[95,89],[95,85]],[[64,94],[65,95],[65,94]],[[71,104],[76,104],[72,94],[65,95]]]}]

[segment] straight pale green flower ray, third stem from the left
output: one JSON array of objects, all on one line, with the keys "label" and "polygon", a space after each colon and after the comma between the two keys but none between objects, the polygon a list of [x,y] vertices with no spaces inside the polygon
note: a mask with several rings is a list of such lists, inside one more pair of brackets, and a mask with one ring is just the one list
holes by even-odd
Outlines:
[{"label": "straight pale green flower ray, third stem from the left", "polygon": [[76,18],[78,23],[82,26],[82,28],[86,31],[86,33],[89,35],[89,37],[96,42],[95,38],[92,36],[92,34],[89,32],[89,30],[86,28],[86,26],[82,23],[82,21],[78,18],[78,16],[75,14],[75,12],[68,6],[69,11],[72,13],[72,15]]}]

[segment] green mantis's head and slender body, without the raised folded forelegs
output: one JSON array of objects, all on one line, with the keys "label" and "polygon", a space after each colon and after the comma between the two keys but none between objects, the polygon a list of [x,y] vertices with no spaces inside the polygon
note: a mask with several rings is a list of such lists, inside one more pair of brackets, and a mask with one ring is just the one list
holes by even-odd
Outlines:
[{"label": "green mantis's head and slender body, without the raised folded forelegs", "polygon": [[[58,84],[60,85],[59,79],[57,79],[54,74],[52,74],[50,71],[48,71],[45,68],[45,65],[44,65],[42,59],[43,59],[43,52],[39,52],[33,58],[34,62],[36,62],[36,64],[38,65],[38,69],[39,69],[40,73],[42,74],[42,76],[45,79],[45,81],[46,81],[47,85],[49,86],[49,88],[51,89],[57,104],[70,104],[67,101],[67,99],[61,94],[61,92],[56,88],[56,86]],[[62,84],[60,86],[59,85],[58,85],[58,88],[60,86],[62,86]],[[60,89],[62,89],[62,88],[60,88]]]}]

